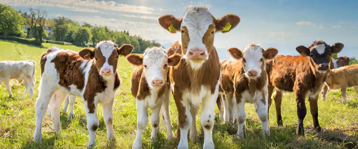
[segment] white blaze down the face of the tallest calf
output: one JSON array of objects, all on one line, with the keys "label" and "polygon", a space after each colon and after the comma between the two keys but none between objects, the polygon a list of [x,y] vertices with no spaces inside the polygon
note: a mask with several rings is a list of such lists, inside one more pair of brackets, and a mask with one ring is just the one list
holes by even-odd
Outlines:
[{"label": "white blaze down the face of the tallest calf", "polygon": [[211,24],[213,24],[213,18],[208,8],[190,7],[185,10],[182,26],[188,29],[190,39],[188,49],[205,49],[203,37]]}]

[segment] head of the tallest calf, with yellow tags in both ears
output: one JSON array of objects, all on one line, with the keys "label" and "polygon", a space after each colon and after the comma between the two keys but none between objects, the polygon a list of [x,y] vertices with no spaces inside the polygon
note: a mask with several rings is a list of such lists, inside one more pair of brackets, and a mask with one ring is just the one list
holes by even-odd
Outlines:
[{"label": "head of the tallest calf, with yellow tags in both ears", "polygon": [[[208,8],[195,6],[186,9],[182,18],[163,15],[160,16],[158,22],[164,29],[169,30],[170,26],[173,25],[176,31],[181,32],[184,58],[189,60],[192,68],[199,69],[208,60],[213,49],[215,32],[222,31],[228,23],[231,25],[230,29],[233,29],[240,22],[240,18],[234,14],[215,18]],[[223,30],[222,33],[229,30]],[[170,33],[174,32],[170,31]]]}]

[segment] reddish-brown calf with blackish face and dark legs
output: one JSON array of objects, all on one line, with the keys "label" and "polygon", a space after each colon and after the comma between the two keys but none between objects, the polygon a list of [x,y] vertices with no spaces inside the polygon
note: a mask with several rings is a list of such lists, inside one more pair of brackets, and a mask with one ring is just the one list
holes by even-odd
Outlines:
[{"label": "reddish-brown calf with blackish face and dark legs", "polygon": [[298,126],[296,133],[304,135],[303,120],[307,109],[305,98],[308,96],[310,111],[313,118],[313,126],[317,131],[321,131],[318,123],[318,94],[322,89],[326,79],[326,72],[329,70],[331,55],[339,53],[344,45],[335,43],[332,46],[324,41],[315,41],[308,48],[303,45],[297,46],[296,50],[301,56],[278,55],[267,65],[269,107],[271,105],[271,95],[274,93],[276,106],[277,124],[282,124],[281,100],[284,91],[294,91],[297,104]]}]

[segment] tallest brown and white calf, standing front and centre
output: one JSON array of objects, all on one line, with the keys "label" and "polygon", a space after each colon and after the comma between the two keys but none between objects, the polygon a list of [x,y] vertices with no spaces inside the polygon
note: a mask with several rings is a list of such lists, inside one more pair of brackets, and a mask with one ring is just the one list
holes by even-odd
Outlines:
[{"label": "tallest brown and white calf, standing front and centre", "polygon": [[[228,23],[233,29],[240,22],[240,18],[234,14],[214,18],[208,8],[194,6],[186,9],[180,19],[173,15],[163,15],[158,22],[167,30],[173,25],[175,30],[182,34],[182,40],[172,45],[172,47],[180,47],[176,53],[181,54],[182,59],[178,65],[170,67],[170,81],[173,85],[179,118],[176,132],[179,139],[178,148],[188,148],[189,129],[190,140],[193,143],[199,140],[195,120],[200,103],[202,103],[200,122],[204,129],[204,148],[214,148],[212,139],[214,106],[218,97],[221,72],[218,54],[213,45],[214,35],[215,32],[222,31]],[[173,51],[168,50],[167,53]]]}]

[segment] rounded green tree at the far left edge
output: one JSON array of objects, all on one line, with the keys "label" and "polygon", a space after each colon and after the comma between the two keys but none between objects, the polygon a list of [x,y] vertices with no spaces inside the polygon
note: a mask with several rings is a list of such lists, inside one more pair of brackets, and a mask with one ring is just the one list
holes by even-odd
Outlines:
[{"label": "rounded green tree at the far left edge", "polygon": [[0,33],[5,37],[8,34],[19,34],[24,25],[24,17],[21,11],[16,11],[10,6],[0,4]]}]

